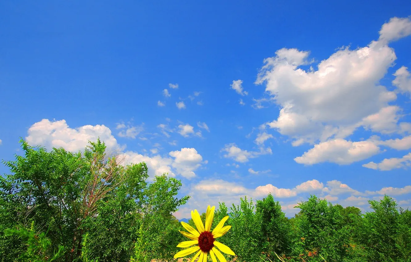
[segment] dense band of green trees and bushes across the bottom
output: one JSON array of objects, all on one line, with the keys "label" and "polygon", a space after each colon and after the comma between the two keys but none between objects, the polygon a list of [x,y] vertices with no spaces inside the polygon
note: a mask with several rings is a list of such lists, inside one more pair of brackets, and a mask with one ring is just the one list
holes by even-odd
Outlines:
[{"label": "dense band of green trees and bushes across the bottom", "polygon": [[[145,163],[122,165],[99,140],[83,154],[21,144],[24,156],[0,177],[0,262],[172,261],[188,240],[172,216],[189,200],[176,197],[179,180],[148,183]],[[228,260],[411,262],[411,211],[387,195],[369,205],[361,214],[312,195],[288,219],[271,194],[255,205],[245,197],[230,210],[219,203],[212,228],[229,215],[218,239],[237,255]]]}]

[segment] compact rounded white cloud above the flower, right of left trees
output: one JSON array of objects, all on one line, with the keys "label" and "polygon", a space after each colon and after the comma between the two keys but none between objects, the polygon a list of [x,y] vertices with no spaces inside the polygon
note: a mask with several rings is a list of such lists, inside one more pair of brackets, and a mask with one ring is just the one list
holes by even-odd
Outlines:
[{"label": "compact rounded white cloud above the flower, right of left trees", "polygon": [[180,151],[171,151],[170,156],[174,157],[171,164],[183,177],[192,178],[196,174],[194,171],[201,167],[203,157],[194,148],[182,148]]}]

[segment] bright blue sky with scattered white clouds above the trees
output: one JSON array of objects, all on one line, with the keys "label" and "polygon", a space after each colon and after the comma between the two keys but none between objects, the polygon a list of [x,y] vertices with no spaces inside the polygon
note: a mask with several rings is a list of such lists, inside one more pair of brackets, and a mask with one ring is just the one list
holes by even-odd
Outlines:
[{"label": "bright blue sky with scattered white clouds above the trees", "polygon": [[100,137],[182,180],[177,218],[268,192],[287,216],[310,194],[409,207],[410,7],[3,1],[0,159]]}]

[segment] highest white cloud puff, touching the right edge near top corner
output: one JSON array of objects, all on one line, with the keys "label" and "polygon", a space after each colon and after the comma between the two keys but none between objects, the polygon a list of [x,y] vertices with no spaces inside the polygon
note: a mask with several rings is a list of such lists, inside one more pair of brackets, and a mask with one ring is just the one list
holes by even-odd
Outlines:
[{"label": "highest white cloud puff, touching the right edge near top corner", "polygon": [[388,23],[382,25],[379,34],[379,40],[383,42],[395,41],[409,36],[411,34],[411,20],[410,18],[393,17]]}]

